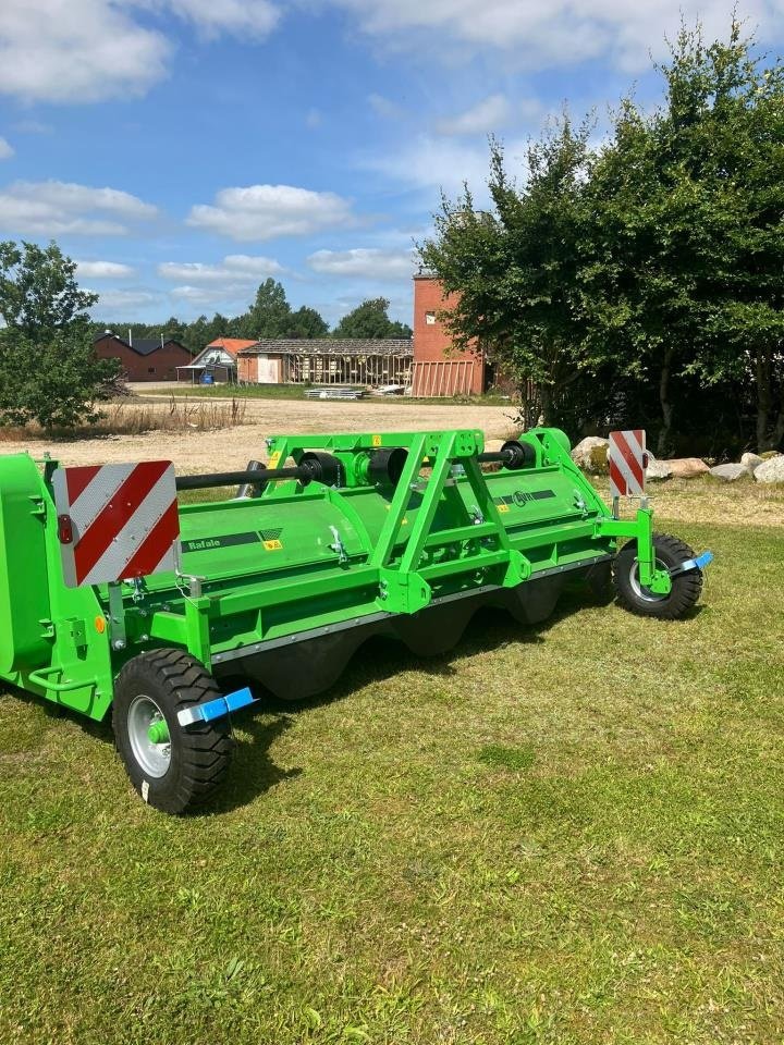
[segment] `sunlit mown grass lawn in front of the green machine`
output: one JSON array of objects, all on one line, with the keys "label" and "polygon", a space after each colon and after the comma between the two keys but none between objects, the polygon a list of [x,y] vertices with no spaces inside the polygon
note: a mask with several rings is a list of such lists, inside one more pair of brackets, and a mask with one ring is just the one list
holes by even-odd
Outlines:
[{"label": "sunlit mown grass lawn in front of the green machine", "polygon": [[367,647],[210,815],[0,697],[0,1042],[781,1042],[784,538],[687,516],[691,619]]}]

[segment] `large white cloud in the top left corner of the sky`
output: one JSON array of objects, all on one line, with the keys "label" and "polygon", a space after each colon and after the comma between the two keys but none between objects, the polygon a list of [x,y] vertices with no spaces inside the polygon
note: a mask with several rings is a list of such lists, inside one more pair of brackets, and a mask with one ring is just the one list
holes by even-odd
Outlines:
[{"label": "large white cloud in the top left corner of the sky", "polygon": [[149,25],[166,14],[254,39],[278,21],[269,0],[2,0],[0,94],[60,103],[143,95],[171,69],[172,42]]}]

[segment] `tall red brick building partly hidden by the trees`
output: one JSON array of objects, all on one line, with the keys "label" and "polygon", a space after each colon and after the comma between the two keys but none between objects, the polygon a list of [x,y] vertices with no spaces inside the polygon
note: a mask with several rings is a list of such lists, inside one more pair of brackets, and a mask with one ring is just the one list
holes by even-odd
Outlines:
[{"label": "tall red brick building partly hidden by the trees", "polygon": [[[438,314],[450,308],[454,302],[454,295],[444,297],[440,282],[433,276],[414,276],[414,395],[452,395],[467,388],[476,394],[485,391],[483,359],[474,353],[448,352],[452,341],[439,322]],[[434,323],[428,323],[428,312],[434,314]],[[441,367],[438,379],[433,381],[430,377],[434,373],[434,367],[418,366],[444,360],[464,362],[468,365],[470,373],[465,373],[464,366]],[[433,393],[431,388],[438,388],[439,391]]]}]

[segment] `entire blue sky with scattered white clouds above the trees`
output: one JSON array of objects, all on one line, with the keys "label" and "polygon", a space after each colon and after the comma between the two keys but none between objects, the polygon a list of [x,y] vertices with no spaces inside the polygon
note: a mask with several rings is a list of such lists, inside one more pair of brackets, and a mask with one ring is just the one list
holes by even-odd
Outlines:
[{"label": "entire blue sky with scattered white clouds above the trees", "polygon": [[[679,13],[656,0],[2,0],[0,238],[56,238],[122,322],[243,311],[268,275],[334,323],[411,322],[412,242],[439,193],[481,198],[568,100],[607,106]],[[746,3],[784,40],[782,0]]]}]

